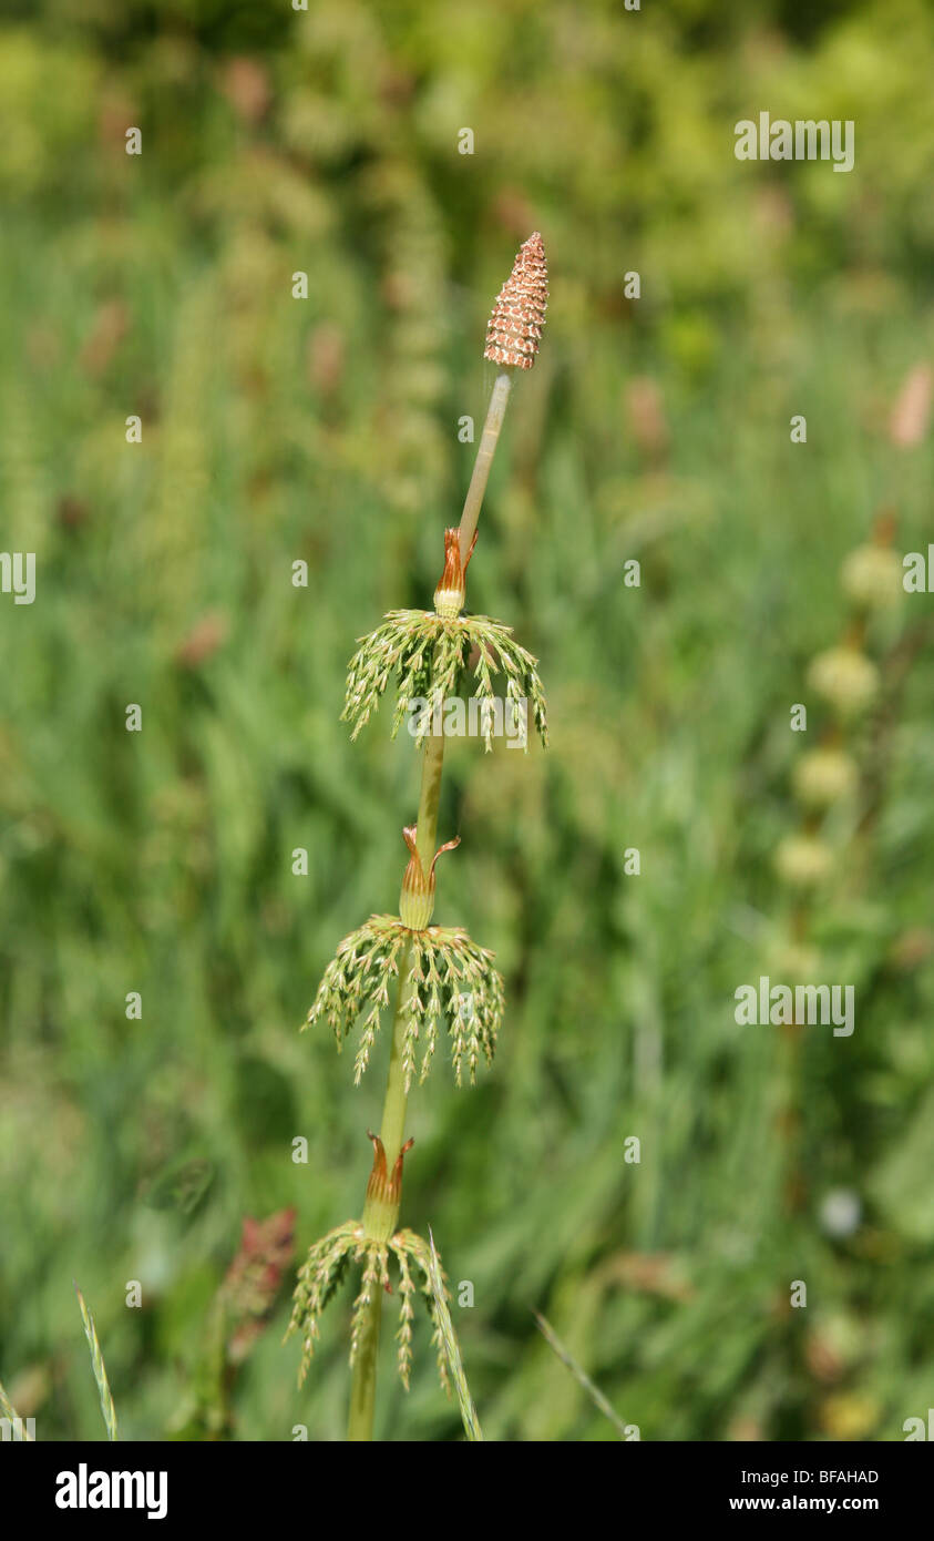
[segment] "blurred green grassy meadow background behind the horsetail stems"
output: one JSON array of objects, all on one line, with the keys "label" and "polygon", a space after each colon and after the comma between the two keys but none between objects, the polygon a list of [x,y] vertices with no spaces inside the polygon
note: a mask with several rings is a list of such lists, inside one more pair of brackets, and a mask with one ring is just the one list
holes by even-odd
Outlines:
[{"label": "blurred green grassy meadow background behind the horsetail stems", "polygon": [[[541,230],[549,325],[469,601],[539,658],[552,749],[447,755],[436,918],[496,951],[507,1020],[478,1089],[439,1057],[415,1094],[404,1220],[475,1285],[455,1324],[487,1438],[615,1438],[538,1310],[644,1439],[902,1439],[934,1351],[929,596],[866,629],[885,689],[846,730],[828,880],[801,900],[774,861],[801,823],[789,707],[811,746],[832,730],[808,667],[852,624],[840,564],[880,515],[899,556],[931,538],[906,427],[934,351],[931,6],[3,17],[0,546],[37,553],[35,603],[0,595],[18,1412],[102,1435],[74,1276],[123,1436],[342,1438],[348,1290],[302,1392],[281,1338],[297,1256],[361,1210],[387,1045],[354,1089],[297,1029],[339,938],[395,908],[418,795],[385,709],[348,743],[344,669],[430,604],[485,314]],[[854,119],[854,171],[738,162],[761,109]],[[851,1039],[735,1025],[789,938],[855,985]],[[242,1222],[290,1207],[271,1316],[219,1370]],[[461,1438],[427,1338],[408,1396],[384,1342],[384,1436]]]}]

